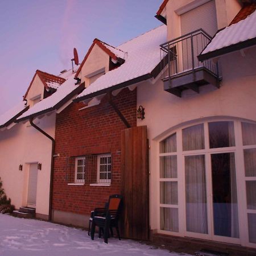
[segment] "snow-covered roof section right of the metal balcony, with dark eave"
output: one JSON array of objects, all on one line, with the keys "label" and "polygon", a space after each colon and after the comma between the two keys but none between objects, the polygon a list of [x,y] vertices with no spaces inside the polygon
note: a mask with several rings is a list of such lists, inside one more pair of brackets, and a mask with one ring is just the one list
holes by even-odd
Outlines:
[{"label": "snow-covered roof section right of the metal balcony, with dark eave", "polygon": [[256,45],[256,11],[246,19],[217,32],[199,55],[199,60],[210,59],[254,45]]}]

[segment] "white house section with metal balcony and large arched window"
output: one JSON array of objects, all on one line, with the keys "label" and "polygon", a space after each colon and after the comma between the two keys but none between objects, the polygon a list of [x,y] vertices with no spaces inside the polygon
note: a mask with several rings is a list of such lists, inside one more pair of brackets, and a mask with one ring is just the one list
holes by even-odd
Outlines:
[{"label": "white house section with metal balcony and large arched window", "polygon": [[256,247],[255,8],[170,0],[158,11],[162,80],[138,86],[156,233]]}]

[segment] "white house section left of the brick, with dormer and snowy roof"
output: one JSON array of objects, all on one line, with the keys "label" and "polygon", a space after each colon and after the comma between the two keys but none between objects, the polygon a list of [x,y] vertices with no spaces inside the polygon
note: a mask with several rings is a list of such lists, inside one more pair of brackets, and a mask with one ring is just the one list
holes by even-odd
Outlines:
[{"label": "white house section left of the brick, with dormer and snowy roof", "polygon": [[[50,217],[56,113],[82,89],[75,85],[70,71],[61,76],[36,71],[23,102],[1,115],[0,177],[16,209],[35,208],[36,217]],[[48,138],[31,126],[30,120]]]}]

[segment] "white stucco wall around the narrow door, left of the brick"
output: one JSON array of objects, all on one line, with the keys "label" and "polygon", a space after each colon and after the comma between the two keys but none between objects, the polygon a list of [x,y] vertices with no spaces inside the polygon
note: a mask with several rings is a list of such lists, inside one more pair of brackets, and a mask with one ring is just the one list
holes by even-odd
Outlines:
[{"label": "white stucco wall around the narrow door, left of the brick", "polygon": [[[40,119],[37,125],[55,137],[56,115]],[[0,177],[6,195],[15,208],[27,206],[29,163],[42,163],[38,171],[36,213],[48,215],[52,142],[27,123],[0,131]],[[19,164],[23,170],[19,171]]]}]

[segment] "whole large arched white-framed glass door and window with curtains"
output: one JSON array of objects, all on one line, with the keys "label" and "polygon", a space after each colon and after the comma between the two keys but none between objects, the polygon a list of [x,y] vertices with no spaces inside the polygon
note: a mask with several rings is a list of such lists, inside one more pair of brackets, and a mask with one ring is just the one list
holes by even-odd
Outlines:
[{"label": "whole large arched white-framed glass door and window with curtains", "polygon": [[200,122],[159,146],[159,232],[256,247],[256,124]]}]

